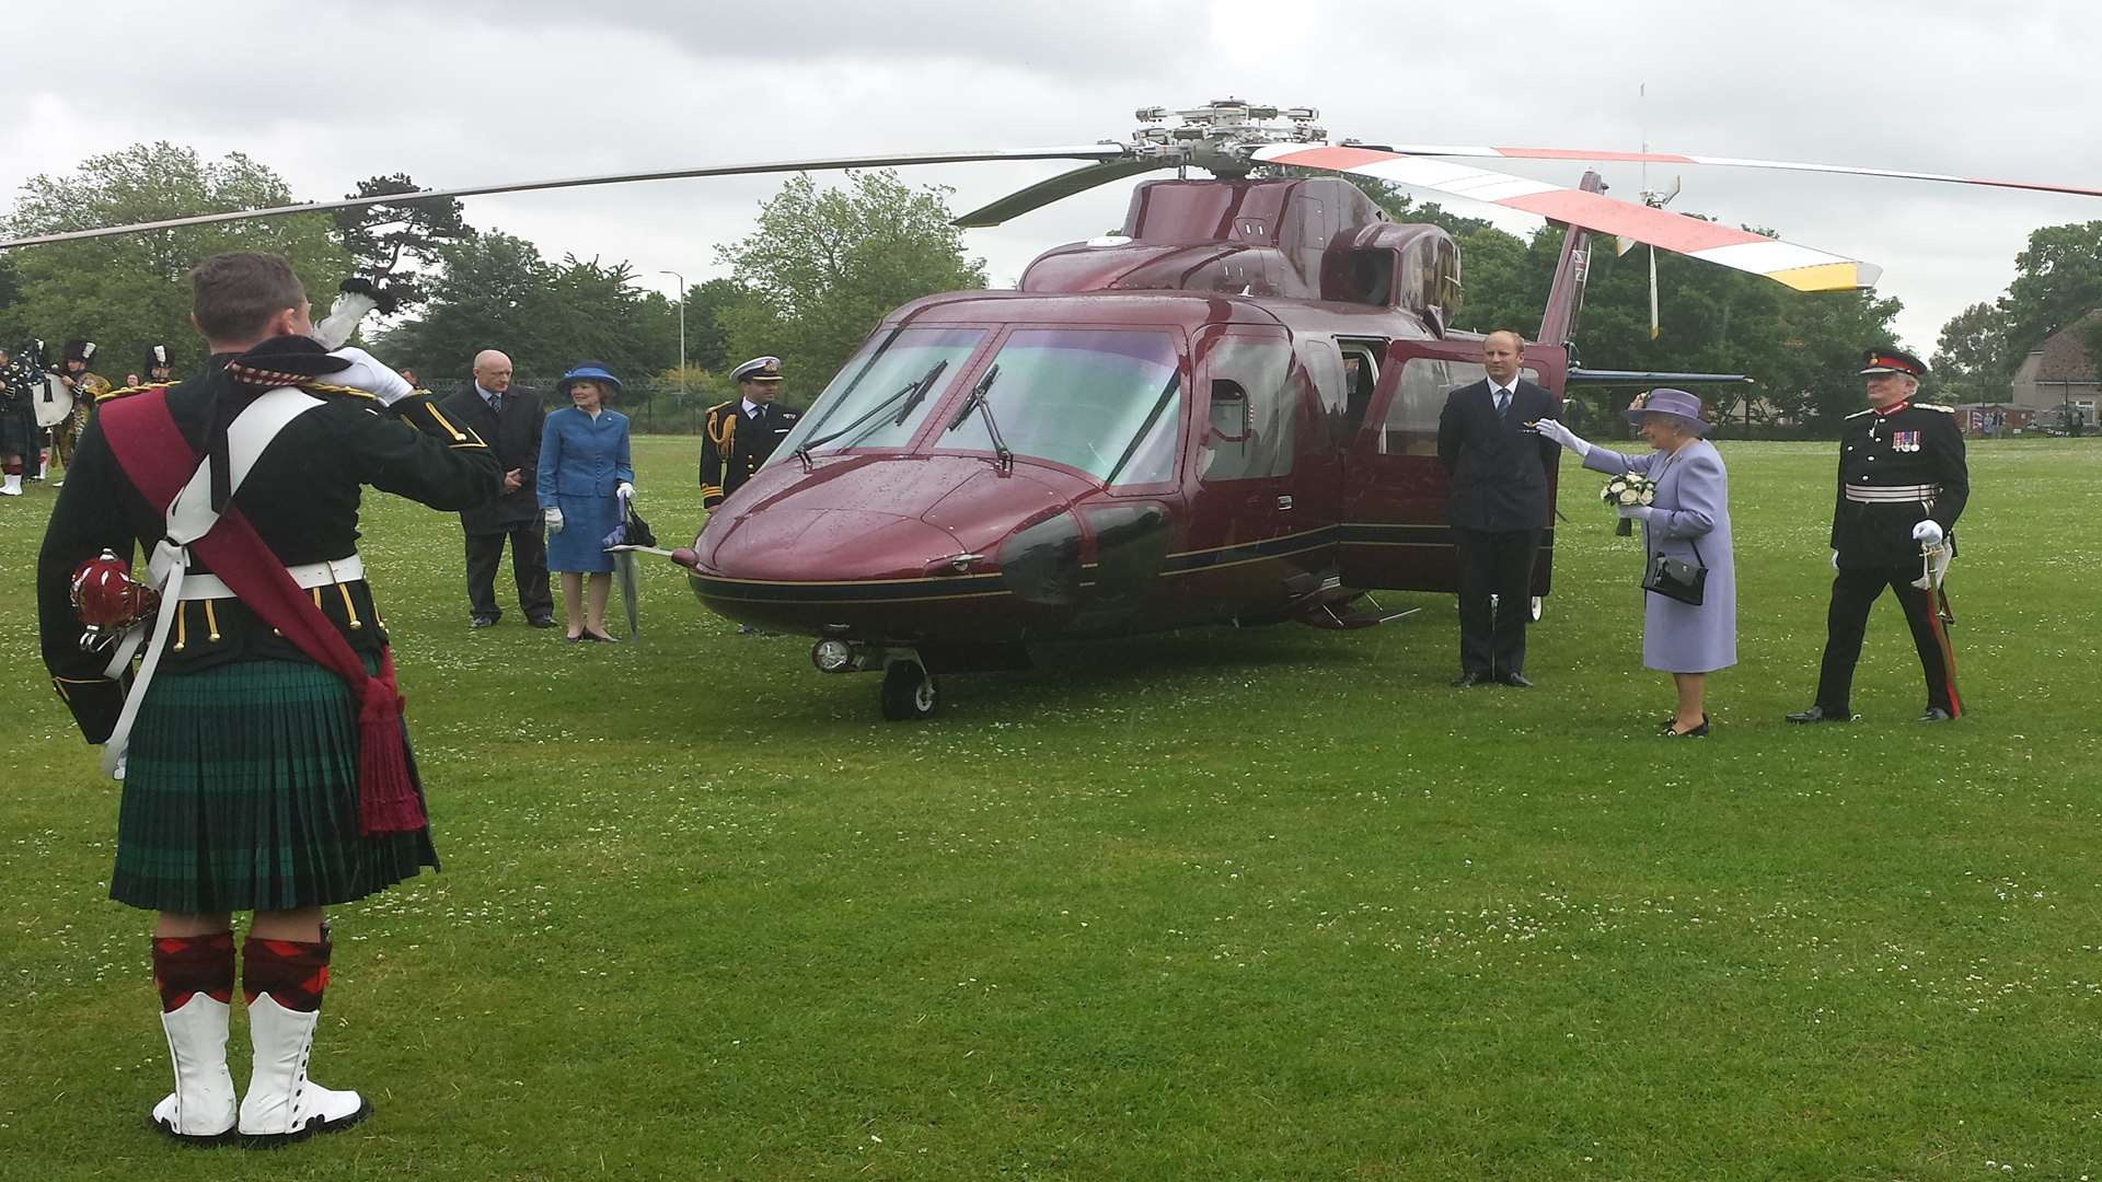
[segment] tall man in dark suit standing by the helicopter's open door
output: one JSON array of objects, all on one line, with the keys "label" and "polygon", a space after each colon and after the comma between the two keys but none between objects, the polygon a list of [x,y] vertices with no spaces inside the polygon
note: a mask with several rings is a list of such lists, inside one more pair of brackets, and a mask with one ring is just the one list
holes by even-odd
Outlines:
[{"label": "tall man in dark suit standing by the helicopter's open door", "polygon": [[[1518,376],[1518,332],[1482,341],[1488,379],[1446,395],[1438,461],[1452,475],[1446,519],[1459,547],[1459,679],[1455,686],[1526,679],[1532,559],[1547,528],[1547,475],[1555,446],[1526,423],[1555,416],[1555,398]],[[1490,599],[1495,597],[1495,604]]]}]

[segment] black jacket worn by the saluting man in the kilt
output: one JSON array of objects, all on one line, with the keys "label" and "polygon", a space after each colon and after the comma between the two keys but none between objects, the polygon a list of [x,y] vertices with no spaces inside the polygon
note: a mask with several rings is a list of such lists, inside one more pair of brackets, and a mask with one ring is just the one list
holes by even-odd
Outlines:
[{"label": "black jacket worn by the saluting man in the kilt", "polygon": [[[227,353],[204,366],[204,376],[168,387],[168,412],[183,440],[204,454],[204,437],[219,398],[246,398],[227,379]],[[122,395],[120,395],[122,398]],[[349,557],[357,551],[362,486],[420,501],[433,509],[465,509],[496,496],[502,469],[473,429],[454,423],[429,395],[383,408],[364,395],[332,395],[301,414],[256,458],[233,494],[233,507],[286,566]],[[103,742],[122,707],[122,684],[103,677],[107,652],[84,652],[80,618],[71,606],[74,568],[103,549],[118,557],[151,555],[166,532],[164,509],[149,505],[118,467],[97,414],[65,473],[59,503],[44,532],[36,564],[36,608],[44,665],[59,696],[88,742]],[[132,564],[145,576],[145,564]],[[204,570],[202,562],[191,570]],[[322,587],[320,608],[353,652],[376,654],[387,646],[385,625],[364,580]],[[233,660],[307,660],[296,646],[240,604],[195,599],[179,608],[164,673],[208,669]]]}]

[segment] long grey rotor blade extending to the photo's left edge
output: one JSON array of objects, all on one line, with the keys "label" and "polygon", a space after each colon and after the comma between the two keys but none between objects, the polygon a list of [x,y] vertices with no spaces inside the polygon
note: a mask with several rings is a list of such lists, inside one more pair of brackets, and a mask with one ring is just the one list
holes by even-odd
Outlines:
[{"label": "long grey rotor blade extending to the photo's left edge", "polygon": [[378,193],[370,198],[343,198],[336,202],[307,202],[296,206],[271,206],[256,210],[206,212],[193,217],[170,217],[162,221],[141,221],[132,225],[105,225],[99,229],[69,229],[61,233],[34,233],[25,238],[0,240],[0,250],[11,246],[38,246],[44,242],[80,242],[86,238],[107,238],[111,233],[139,233],[147,229],[172,229],[179,225],[212,225],[223,221],[246,221],[256,217],[284,217],[294,212],[328,212],[359,206],[404,206],[439,198],[481,198],[490,193],[534,193],[542,189],[582,189],[589,185],[624,185],[631,181],[675,181],[685,177],[748,177],[763,172],[820,172],[832,168],[898,168],[908,164],[971,164],[982,160],[1118,160],[1127,151],[1114,143],[1089,143],[1070,147],[1019,147],[980,151],[910,151],[893,156],[834,156],[816,160],[769,160],[759,164],[708,164],[700,168],[664,168],[656,172],[607,172],[601,177],[565,177],[555,181],[519,181],[507,185],[462,185],[454,189],[418,189],[414,193]]}]

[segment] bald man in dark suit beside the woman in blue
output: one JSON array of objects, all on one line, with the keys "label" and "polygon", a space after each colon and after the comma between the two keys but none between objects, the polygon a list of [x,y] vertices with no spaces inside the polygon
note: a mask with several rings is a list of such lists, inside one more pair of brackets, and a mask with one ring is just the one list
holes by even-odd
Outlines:
[{"label": "bald man in dark suit beside the woman in blue", "polygon": [[496,349],[475,353],[475,381],[460,387],[441,406],[488,440],[504,465],[504,490],[460,511],[467,530],[467,616],[477,629],[494,625],[496,564],[511,538],[511,576],[519,587],[519,608],[536,629],[555,627],[555,599],[547,589],[547,538],[540,532],[540,505],[534,498],[532,473],[540,467],[540,427],[547,412],[540,398],[511,389],[511,358]]}]

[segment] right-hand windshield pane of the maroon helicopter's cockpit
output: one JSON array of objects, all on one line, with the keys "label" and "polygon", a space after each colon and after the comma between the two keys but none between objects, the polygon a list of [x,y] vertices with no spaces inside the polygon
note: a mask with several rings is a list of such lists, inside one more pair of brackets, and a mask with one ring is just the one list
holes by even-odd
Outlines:
[{"label": "right-hand windshield pane of the maroon helicopter's cockpit", "polygon": [[[1017,456],[1076,467],[1110,486],[1175,480],[1181,374],[1173,334],[1017,328],[990,364],[1001,374],[984,400]],[[984,414],[959,419],[931,446],[996,450]]]}]

